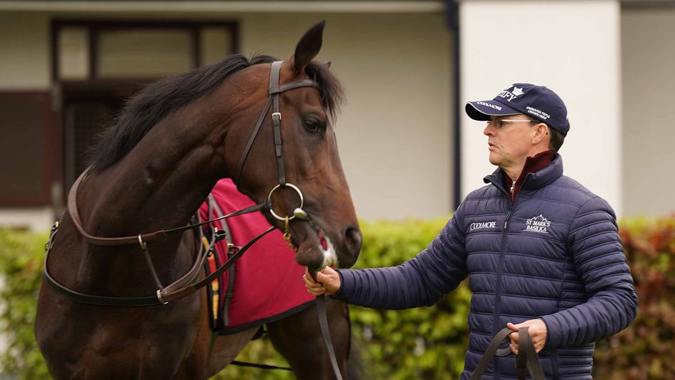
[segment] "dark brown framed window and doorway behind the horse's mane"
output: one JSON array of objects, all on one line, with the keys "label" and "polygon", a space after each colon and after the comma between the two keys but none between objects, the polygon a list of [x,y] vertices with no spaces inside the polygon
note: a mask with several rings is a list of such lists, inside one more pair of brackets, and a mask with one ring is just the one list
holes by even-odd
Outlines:
[{"label": "dark brown framed window and doorway behind the horse's mane", "polygon": [[225,21],[58,20],[52,33],[66,191],[89,164],[89,146],[114,123],[123,99],[151,81],[236,51],[236,23]]}]

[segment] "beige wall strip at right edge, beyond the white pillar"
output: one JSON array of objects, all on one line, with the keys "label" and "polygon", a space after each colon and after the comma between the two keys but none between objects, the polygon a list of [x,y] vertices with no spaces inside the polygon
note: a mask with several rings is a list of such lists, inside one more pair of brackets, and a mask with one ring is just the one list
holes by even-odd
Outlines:
[{"label": "beige wall strip at right edge, beyond the white pillar", "polygon": [[675,211],[675,9],[624,9],[621,13],[624,144],[623,209],[626,215]]}]

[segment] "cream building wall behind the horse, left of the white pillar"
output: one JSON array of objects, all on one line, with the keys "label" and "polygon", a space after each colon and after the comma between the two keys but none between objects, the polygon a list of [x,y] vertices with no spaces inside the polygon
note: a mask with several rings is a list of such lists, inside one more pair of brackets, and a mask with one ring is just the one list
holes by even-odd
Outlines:
[{"label": "cream building wall behind the horse, left of the white pillar", "polygon": [[[134,14],[134,19],[239,21],[242,53],[280,59],[293,54],[309,26],[326,19],[317,59],[332,61],[331,69],[346,88],[336,134],[357,214],[362,219],[431,218],[451,211],[451,34],[442,8],[410,11],[416,7],[408,4],[406,13],[148,11]],[[7,67],[0,69],[0,89],[49,89],[52,16],[129,17],[70,11],[0,14],[5,21],[0,26],[0,65]],[[0,209],[0,225],[31,218],[34,211],[22,215],[21,210]],[[49,229],[51,219],[47,209],[31,226]]]}]

